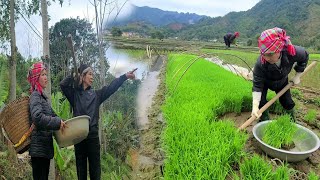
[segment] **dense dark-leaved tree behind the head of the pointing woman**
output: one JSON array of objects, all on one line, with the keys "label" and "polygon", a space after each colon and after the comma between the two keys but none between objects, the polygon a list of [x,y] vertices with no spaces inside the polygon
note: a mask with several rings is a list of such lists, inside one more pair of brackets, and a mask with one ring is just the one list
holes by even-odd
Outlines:
[{"label": "dense dark-leaved tree behind the head of the pointing woman", "polygon": [[62,19],[49,30],[50,52],[52,54],[53,92],[60,90],[59,82],[71,73],[71,51],[66,39],[71,34],[74,41],[77,64],[95,64],[99,60],[97,37],[92,25],[79,18]]}]

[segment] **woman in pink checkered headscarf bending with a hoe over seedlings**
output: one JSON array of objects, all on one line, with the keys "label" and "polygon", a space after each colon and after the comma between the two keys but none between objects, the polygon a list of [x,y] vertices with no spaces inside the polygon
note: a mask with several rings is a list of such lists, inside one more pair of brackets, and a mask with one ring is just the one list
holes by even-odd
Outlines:
[{"label": "woman in pink checkered headscarf bending with a hoe over seedlings", "polygon": [[[258,46],[260,56],[253,71],[252,115],[264,121],[270,119],[268,111],[258,114],[258,110],[267,103],[268,89],[276,93],[281,91],[288,84],[288,74],[294,63],[297,75],[292,81],[295,85],[299,84],[299,74],[308,64],[309,54],[304,48],[292,45],[286,31],[277,27],[263,31],[258,39]],[[279,101],[292,121],[295,121],[295,103],[290,90]]]}]

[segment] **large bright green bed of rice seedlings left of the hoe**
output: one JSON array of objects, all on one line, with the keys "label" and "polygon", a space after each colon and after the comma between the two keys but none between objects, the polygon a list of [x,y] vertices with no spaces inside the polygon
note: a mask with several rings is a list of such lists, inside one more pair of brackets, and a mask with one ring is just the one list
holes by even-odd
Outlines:
[{"label": "large bright green bed of rice seedlings left of the hoe", "polygon": [[[163,148],[165,179],[226,179],[243,156],[247,134],[218,115],[241,112],[251,102],[252,83],[199,59],[179,82],[177,69],[196,56],[172,54],[166,71],[168,95]],[[181,74],[180,74],[181,73]],[[177,78],[178,77],[178,78]],[[246,102],[245,102],[246,101]]]}]

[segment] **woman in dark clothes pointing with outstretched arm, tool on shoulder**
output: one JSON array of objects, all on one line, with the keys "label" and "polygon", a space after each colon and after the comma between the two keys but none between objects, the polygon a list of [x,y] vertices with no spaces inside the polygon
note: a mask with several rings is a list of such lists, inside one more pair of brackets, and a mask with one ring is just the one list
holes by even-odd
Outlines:
[{"label": "woman in dark clothes pointing with outstretched arm, tool on shoulder", "polygon": [[[90,116],[88,137],[75,145],[76,166],[78,179],[87,179],[87,161],[89,161],[89,174],[91,180],[101,178],[100,141],[98,135],[99,106],[118,88],[124,81],[134,79],[134,71],[128,72],[111,82],[109,86],[93,90],[93,71],[88,65],[81,65],[78,69],[79,82],[74,84],[71,75],[60,82],[63,94],[67,97],[73,109],[73,116]],[[78,86],[79,85],[79,86]]]}]

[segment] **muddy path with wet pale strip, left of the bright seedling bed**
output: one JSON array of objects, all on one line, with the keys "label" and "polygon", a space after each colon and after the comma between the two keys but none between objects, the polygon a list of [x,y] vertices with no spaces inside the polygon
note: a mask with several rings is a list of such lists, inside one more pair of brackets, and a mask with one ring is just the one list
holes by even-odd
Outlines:
[{"label": "muddy path with wet pale strip, left of the bright seedling bed", "polygon": [[163,153],[160,149],[162,115],[160,106],[164,100],[165,56],[158,56],[150,72],[143,80],[137,97],[139,148],[129,151],[132,179],[160,179]]}]

